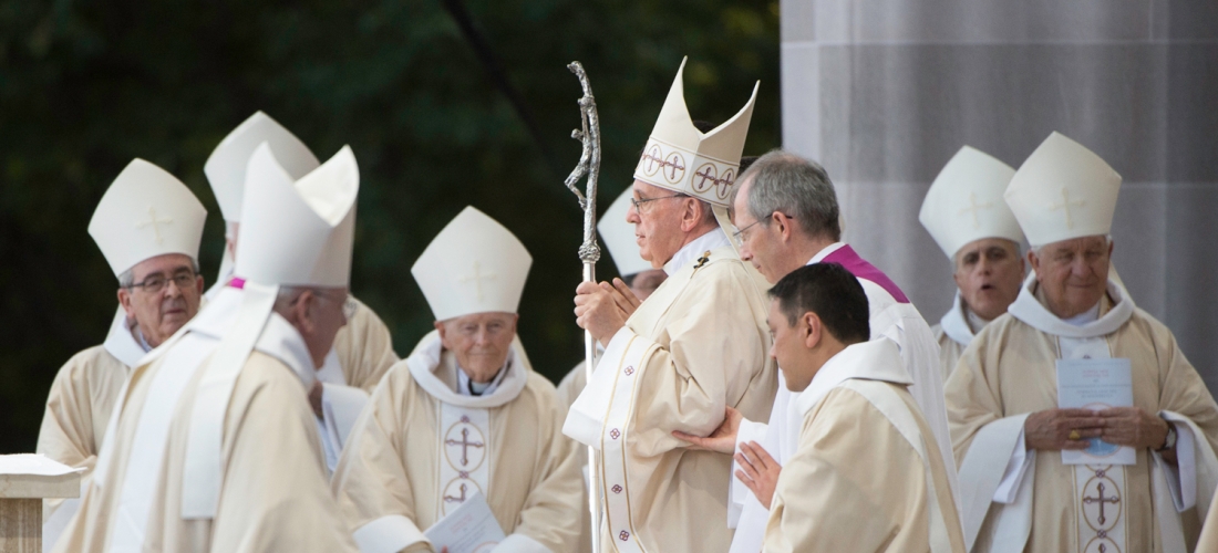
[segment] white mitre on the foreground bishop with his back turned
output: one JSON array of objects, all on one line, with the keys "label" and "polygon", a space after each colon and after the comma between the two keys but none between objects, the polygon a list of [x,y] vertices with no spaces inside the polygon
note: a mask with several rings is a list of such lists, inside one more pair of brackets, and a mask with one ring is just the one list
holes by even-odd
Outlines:
[{"label": "white mitre on the foreground bishop with his back turned", "polygon": [[339,288],[351,280],[359,168],[351,148],[300,180],[268,145],[250,157],[234,275],[259,284]]}]

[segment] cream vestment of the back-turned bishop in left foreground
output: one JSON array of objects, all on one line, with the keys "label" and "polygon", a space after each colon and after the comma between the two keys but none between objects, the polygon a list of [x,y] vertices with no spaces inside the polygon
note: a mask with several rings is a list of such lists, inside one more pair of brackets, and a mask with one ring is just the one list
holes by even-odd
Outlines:
[{"label": "cream vestment of the back-turned bishop in left foreground", "polygon": [[306,397],[313,362],[272,315],[236,379],[223,422],[222,481],[212,519],[180,517],[195,396],[206,361],[236,317],[241,293],[217,295],[150,363],[116,408],[97,473],[56,552],[354,551],[329,492]]}]

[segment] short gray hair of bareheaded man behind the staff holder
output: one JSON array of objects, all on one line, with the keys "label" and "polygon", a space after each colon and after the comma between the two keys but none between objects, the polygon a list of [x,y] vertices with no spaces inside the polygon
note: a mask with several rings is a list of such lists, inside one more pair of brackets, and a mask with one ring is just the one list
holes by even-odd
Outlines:
[{"label": "short gray hair of bareheaded man behind the staff holder", "polygon": [[[776,148],[758,158],[738,180],[743,184],[745,179],[753,182],[748,197],[753,219],[764,221],[780,211],[799,221],[809,237],[842,239],[837,192],[825,168],[816,162]],[[732,191],[732,204],[738,190]]]}]

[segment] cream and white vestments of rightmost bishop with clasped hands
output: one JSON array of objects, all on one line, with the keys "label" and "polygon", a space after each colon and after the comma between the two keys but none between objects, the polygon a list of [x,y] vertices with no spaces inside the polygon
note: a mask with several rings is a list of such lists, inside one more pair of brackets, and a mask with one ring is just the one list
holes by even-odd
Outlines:
[{"label": "cream and white vestments of rightmost bishop with clasped hands", "polygon": [[[965,536],[974,552],[1192,551],[1218,484],[1218,406],[1170,331],[1110,278],[1095,320],[1044,306],[1035,273],[1006,315],[977,334],[946,383]],[[1178,463],[1065,464],[1027,451],[1029,413],[1057,408],[1058,360],[1127,359],[1133,404],[1172,422]]]}]

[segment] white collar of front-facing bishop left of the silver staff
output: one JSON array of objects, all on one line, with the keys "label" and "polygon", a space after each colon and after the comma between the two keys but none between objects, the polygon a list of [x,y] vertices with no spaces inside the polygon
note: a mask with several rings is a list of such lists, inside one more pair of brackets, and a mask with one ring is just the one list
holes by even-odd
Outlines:
[{"label": "white collar of front-facing bishop left of the silver staff", "polygon": [[[507,368],[499,371],[502,378],[499,385],[492,393],[484,393],[479,396],[458,394],[436,376],[436,369],[440,368],[440,356],[443,354],[440,333],[436,331],[423,337],[423,342],[406,359],[406,365],[410,368],[414,382],[418,382],[423,390],[432,397],[460,407],[491,408],[516,399],[524,391],[525,384],[529,383],[529,367],[520,361],[524,355],[520,355],[516,348],[516,342],[513,340],[512,351],[508,352]],[[463,371],[458,368],[457,372],[462,373]]]}]

